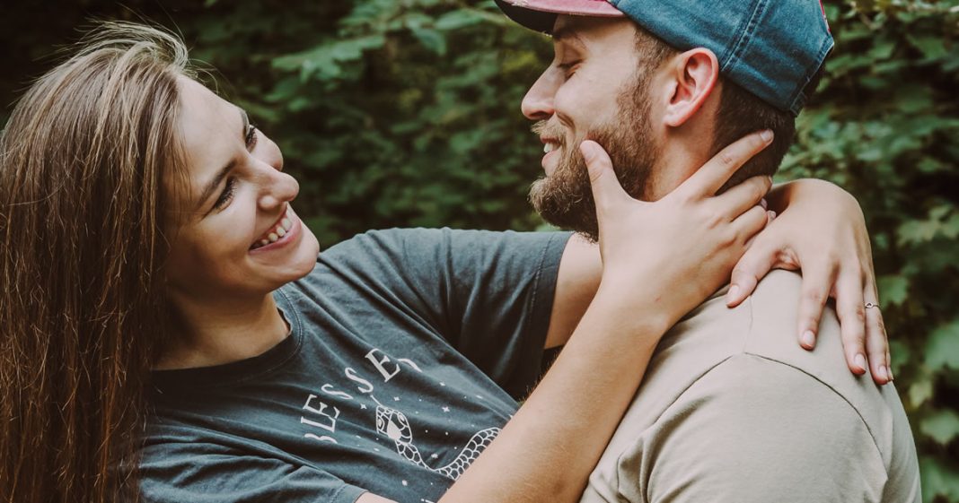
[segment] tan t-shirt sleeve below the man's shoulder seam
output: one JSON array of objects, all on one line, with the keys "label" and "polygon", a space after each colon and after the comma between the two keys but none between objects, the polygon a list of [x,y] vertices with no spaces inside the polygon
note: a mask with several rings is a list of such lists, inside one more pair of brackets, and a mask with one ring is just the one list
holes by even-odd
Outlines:
[{"label": "tan t-shirt sleeve below the man's shoulder seam", "polygon": [[887,478],[849,402],[752,354],[697,379],[619,461],[634,502],[879,502]]}]

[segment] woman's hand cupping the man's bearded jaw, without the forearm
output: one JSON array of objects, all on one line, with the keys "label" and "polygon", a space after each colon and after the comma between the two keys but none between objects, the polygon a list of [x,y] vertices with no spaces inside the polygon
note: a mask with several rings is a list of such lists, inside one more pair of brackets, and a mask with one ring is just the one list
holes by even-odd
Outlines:
[{"label": "woman's hand cupping the man's bearded jaw, without the forearm", "polygon": [[599,291],[612,289],[620,304],[633,302],[638,311],[654,304],[669,327],[725,285],[747,243],[766,225],[760,200],[771,180],[755,176],[715,193],[771,140],[772,132],[763,131],[737,141],[655,202],[626,194],[606,151],[583,142],[596,201]]}]

